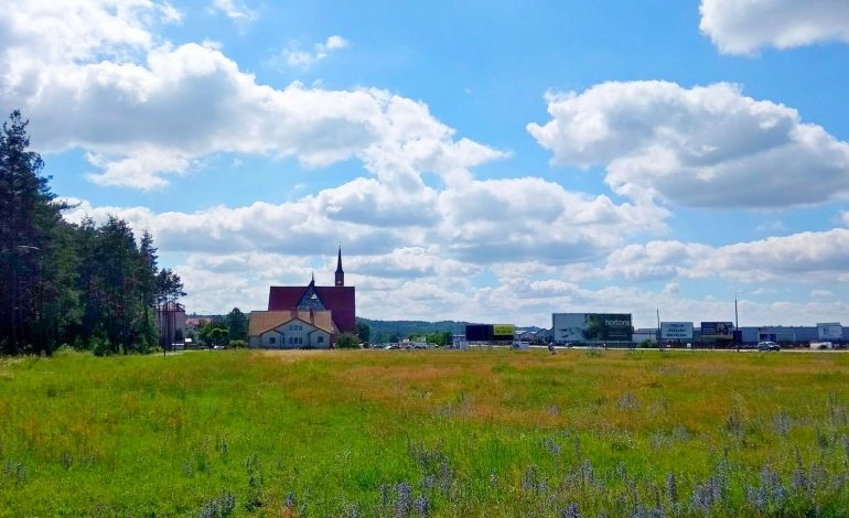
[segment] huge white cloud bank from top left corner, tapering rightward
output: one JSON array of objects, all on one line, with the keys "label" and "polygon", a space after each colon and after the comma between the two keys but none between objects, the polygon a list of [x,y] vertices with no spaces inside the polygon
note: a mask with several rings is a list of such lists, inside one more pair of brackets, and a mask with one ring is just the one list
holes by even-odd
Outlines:
[{"label": "huge white cloud bank from top left corner, tapering rightward", "polygon": [[[24,110],[43,151],[85,150],[96,169],[89,179],[99,184],[162,187],[169,174],[226,152],[312,168],[355,158],[399,184],[416,184],[423,172],[462,176],[505,155],[455,140],[427,106],[389,91],[275,88],[240,71],[217,44],[161,41],[151,29],[175,17],[164,2],[15,8],[0,14],[0,102]],[[334,35],[315,55],[346,45]]]}]

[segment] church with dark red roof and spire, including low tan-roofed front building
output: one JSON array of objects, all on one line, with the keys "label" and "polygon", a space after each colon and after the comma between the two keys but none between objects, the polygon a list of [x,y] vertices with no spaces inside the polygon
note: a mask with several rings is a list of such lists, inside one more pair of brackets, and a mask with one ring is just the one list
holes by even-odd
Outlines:
[{"label": "church with dark red roof and spire, including low tan-roofed front building", "polygon": [[354,287],[345,285],[342,247],[336,259],[335,285],[272,285],[268,311],[250,314],[249,343],[256,347],[292,348],[332,346],[338,333],[356,334]]}]

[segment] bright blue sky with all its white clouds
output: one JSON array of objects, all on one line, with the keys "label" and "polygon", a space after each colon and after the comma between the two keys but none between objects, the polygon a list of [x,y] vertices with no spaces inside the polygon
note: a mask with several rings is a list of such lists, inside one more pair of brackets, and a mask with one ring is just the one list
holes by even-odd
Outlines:
[{"label": "bright blue sky with all its white clouds", "polygon": [[6,0],[0,109],[187,312],[849,325],[849,2]]}]

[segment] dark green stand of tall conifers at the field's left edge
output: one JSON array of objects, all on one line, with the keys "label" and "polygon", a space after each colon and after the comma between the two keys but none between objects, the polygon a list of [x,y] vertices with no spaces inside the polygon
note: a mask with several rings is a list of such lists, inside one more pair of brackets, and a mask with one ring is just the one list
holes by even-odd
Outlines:
[{"label": "dark green stand of tall conifers at the field's left edge", "polygon": [[159,269],[148,231],[137,239],[115,216],[66,222],[72,206],[51,192],[28,125],[15,110],[0,132],[0,349],[150,350],[160,342],[157,307],[185,295],[180,277]]}]

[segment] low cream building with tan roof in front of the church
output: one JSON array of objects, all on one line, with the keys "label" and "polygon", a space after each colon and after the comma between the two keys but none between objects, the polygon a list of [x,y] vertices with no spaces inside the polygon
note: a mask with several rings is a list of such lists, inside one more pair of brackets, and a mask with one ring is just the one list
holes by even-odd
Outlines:
[{"label": "low cream building with tan roof in front of the church", "polygon": [[268,349],[330,348],[336,328],[330,311],[254,311],[248,345]]}]

